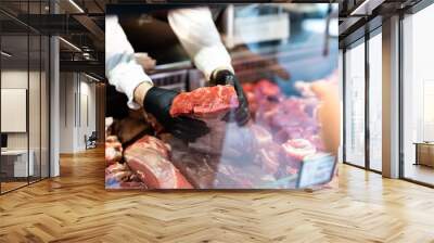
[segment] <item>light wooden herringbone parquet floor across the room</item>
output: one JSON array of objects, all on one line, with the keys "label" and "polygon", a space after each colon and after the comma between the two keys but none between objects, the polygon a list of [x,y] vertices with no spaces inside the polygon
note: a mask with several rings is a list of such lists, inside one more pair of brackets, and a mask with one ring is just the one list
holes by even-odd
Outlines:
[{"label": "light wooden herringbone parquet floor across the room", "polygon": [[0,196],[0,242],[434,242],[434,190],[342,166],[318,192],[107,192],[103,151]]}]

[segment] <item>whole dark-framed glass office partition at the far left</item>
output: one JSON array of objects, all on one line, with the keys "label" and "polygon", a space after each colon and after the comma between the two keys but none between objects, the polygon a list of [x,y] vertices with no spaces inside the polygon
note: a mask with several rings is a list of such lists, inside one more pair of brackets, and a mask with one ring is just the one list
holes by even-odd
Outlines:
[{"label": "whole dark-framed glass office partition at the far left", "polygon": [[[47,11],[47,1],[9,4],[0,8],[22,20]],[[49,48],[42,33],[0,14],[1,194],[49,176]]]}]

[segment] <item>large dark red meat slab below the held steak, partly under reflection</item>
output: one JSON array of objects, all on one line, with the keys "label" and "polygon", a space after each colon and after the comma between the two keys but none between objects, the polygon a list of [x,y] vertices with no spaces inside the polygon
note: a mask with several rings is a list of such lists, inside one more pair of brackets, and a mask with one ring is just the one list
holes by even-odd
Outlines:
[{"label": "large dark red meat slab below the held steak, partly under reflection", "polygon": [[237,129],[229,129],[221,154],[191,150],[177,139],[168,140],[174,148],[174,165],[194,188],[257,188],[276,180],[273,174],[283,154],[281,146],[259,126],[232,126]]}]

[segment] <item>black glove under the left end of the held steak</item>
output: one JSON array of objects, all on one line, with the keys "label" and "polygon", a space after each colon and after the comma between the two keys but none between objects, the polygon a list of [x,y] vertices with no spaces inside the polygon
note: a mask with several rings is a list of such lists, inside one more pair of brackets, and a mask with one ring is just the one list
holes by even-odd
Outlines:
[{"label": "black glove under the left end of the held steak", "polygon": [[209,128],[203,120],[170,116],[171,102],[178,94],[179,92],[174,90],[152,87],[144,98],[143,107],[175,137],[194,142],[197,138],[208,133]]}]

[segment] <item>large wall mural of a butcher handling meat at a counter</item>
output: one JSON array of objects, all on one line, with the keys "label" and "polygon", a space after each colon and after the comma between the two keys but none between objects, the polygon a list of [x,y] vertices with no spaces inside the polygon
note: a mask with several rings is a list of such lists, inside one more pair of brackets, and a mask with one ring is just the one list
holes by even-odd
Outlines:
[{"label": "large wall mural of a butcher handling meat at a counter", "polygon": [[336,12],[322,3],[108,5],[106,189],[335,181]]}]

